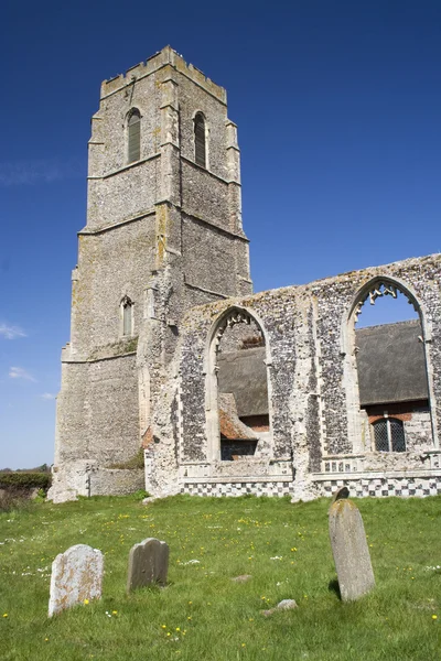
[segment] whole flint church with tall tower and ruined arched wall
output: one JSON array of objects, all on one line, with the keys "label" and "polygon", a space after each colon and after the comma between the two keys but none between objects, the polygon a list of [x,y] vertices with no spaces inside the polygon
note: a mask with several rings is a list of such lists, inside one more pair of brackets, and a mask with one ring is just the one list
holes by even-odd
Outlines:
[{"label": "whole flint church with tall tower and ruined arched wall", "polygon": [[254,294],[226,91],[169,46],[103,83],[87,180],[55,502],[441,492],[440,254]]}]

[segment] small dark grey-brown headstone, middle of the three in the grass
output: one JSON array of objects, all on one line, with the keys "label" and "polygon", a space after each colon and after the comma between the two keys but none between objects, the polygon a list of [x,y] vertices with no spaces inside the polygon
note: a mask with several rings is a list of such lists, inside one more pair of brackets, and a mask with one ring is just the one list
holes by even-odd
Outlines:
[{"label": "small dark grey-brown headstone, middle of the three in the grass", "polygon": [[160,583],[166,583],[169,570],[169,545],[154,538],[135,544],[129,554],[127,592]]}]

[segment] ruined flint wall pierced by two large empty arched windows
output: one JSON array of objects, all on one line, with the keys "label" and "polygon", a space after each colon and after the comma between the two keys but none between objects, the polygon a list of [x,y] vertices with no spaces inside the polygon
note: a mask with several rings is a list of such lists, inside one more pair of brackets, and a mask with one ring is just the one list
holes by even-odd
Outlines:
[{"label": "ruined flint wall pierced by two large empty arched windows", "polygon": [[[427,469],[429,455],[422,459],[421,453],[438,448],[441,401],[440,277],[441,257],[434,254],[192,310],[181,326],[183,490],[215,492],[219,487],[214,485],[219,478],[224,484],[228,481],[228,472],[235,484],[241,485],[232,487],[233,491],[259,492],[268,488],[265,475],[270,473],[271,462],[266,470],[252,457],[236,463],[209,462],[208,457],[206,382],[211,366],[207,365],[207,342],[216,321],[228,308],[246,310],[255,315],[267,338],[272,465],[288,465],[292,460],[294,473],[293,481],[283,487],[286,492],[300,497],[301,494],[311,497],[322,492],[321,483],[314,476],[322,473],[324,460],[330,456],[354,456],[361,451],[367,470],[399,470],[406,466],[415,470]],[[402,456],[401,453],[372,453],[370,444],[354,447],[355,440],[351,443],[348,431],[348,391],[354,388],[356,376],[347,370],[346,354],[354,349],[347,340],[347,325],[353,324],[349,316],[361,300],[361,292],[367,292],[369,283],[374,285],[381,279],[396,282],[418,301],[428,358],[434,436],[421,434],[421,443]],[[423,423],[427,431],[427,420]],[[354,460],[351,462],[353,467]],[[205,472],[204,481],[197,478],[197,472]]]}]

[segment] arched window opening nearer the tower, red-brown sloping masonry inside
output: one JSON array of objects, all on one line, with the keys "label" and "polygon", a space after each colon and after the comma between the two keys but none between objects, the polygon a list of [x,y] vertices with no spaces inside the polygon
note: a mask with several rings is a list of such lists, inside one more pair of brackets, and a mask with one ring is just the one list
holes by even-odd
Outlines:
[{"label": "arched window opening nearer the tower, red-brown sloping masonry inside", "polygon": [[213,458],[268,455],[268,376],[260,326],[246,311],[229,311],[216,328],[211,354]]}]

